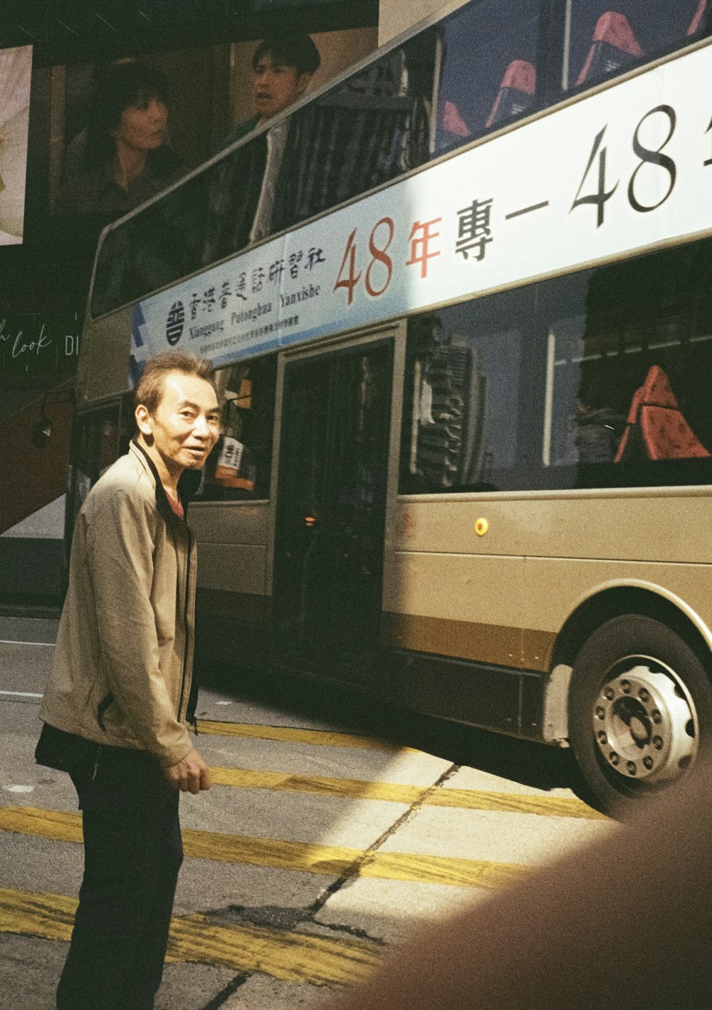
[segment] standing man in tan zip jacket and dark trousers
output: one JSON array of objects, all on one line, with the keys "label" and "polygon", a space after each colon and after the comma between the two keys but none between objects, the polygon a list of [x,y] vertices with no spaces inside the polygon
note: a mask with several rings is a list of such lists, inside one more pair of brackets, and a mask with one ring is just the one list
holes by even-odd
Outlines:
[{"label": "standing man in tan zip jacket and dark trousers", "polygon": [[187,723],[195,538],[180,478],[219,432],[211,366],[148,362],[137,435],[77,519],[36,758],[72,776],[84,880],[59,1010],[149,1010],[183,858],[179,791],[210,788]]}]

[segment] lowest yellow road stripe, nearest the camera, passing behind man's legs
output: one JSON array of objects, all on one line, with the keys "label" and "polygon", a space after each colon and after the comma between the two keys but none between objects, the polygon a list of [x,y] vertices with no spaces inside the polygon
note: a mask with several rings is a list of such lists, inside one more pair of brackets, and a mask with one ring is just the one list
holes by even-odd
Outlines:
[{"label": "lowest yellow road stripe, nearest the camera, passing behind man's legs", "polygon": [[[69,940],[77,901],[62,894],[0,888],[0,932]],[[197,962],[236,972],[263,972],[313,986],[355,982],[378,965],[382,948],[262,926],[219,926],[205,915],[174,916],[167,961]]]}]

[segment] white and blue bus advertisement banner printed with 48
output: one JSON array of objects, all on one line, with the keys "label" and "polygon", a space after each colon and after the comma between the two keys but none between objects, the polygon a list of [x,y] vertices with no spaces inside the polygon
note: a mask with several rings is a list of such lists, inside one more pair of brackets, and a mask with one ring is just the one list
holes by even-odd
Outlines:
[{"label": "white and blue bus advertisement banner printed with 48", "polygon": [[223,366],[707,234],[711,75],[706,45],[148,297],[134,361]]}]

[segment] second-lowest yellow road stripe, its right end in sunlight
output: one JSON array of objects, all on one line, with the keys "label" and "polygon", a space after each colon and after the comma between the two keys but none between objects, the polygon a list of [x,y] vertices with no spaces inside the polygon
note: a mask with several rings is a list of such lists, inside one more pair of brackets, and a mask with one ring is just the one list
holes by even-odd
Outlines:
[{"label": "second-lowest yellow road stripe, its right end in sunlight", "polygon": [[[79,814],[33,807],[0,807],[0,830],[55,841],[80,842],[82,818]],[[408,852],[365,852],[360,848],[190,829],[183,831],[183,848],[188,856],[221,863],[247,864],[325,877],[341,877],[350,873],[354,877],[455,887],[501,887],[526,872],[526,868],[511,863]]]}]

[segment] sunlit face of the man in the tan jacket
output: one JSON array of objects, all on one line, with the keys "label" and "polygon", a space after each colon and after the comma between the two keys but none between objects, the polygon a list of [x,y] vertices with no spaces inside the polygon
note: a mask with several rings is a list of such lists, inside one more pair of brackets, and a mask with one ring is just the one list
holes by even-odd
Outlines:
[{"label": "sunlit face of the man in the tan jacket", "polygon": [[[142,413],[141,413],[142,411]],[[169,470],[199,470],[220,434],[215,390],[205,379],[171,372],[155,415],[136,408],[136,421]]]}]

